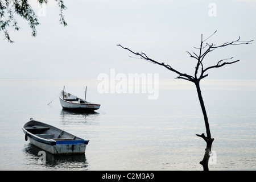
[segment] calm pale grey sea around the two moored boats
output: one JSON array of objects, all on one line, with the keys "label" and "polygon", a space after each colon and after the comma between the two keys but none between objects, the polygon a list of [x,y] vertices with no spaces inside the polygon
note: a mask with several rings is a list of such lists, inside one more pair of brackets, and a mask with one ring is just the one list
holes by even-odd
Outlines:
[{"label": "calm pale grey sea around the two moored boats", "polygon": [[[159,80],[159,94],[103,93],[93,79],[0,79],[1,170],[202,170],[206,144],[195,86]],[[101,104],[94,114],[63,111],[65,91]],[[201,84],[214,160],[210,170],[256,169],[256,80]],[[25,141],[22,125],[34,118],[89,139],[85,155],[38,162],[39,148]]]}]

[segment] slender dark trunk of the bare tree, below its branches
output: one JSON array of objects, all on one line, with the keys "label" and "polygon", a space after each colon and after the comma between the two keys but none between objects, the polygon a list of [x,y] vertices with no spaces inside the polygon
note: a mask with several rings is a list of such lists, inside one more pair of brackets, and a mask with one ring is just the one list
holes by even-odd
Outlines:
[{"label": "slender dark trunk of the bare tree, below its branches", "polygon": [[205,148],[204,158],[200,162],[200,164],[203,166],[204,171],[209,171],[209,168],[208,168],[208,162],[209,162],[209,158],[210,158],[209,154],[210,154],[210,151],[212,150],[212,142],[213,142],[214,138],[212,138],[210,135],[210,126],[209,126],[209,122],[208,122],[207,111],[204,106],[204,101],[203,101],[203,97],[201,94],[199,81],[198,80],[195,81],[195,84],[196,84],[196,90],[197,90],[197,94],[199,97],[201,109],[202,109],[203,115],[204,115],[205,129],[206,129],[206,133],[207,133],[207,137],[205,137],[204,133],[201,135],[197,135],[198,137],[203,138],[205,140],[205,142],[207,143],[207,148]]}]

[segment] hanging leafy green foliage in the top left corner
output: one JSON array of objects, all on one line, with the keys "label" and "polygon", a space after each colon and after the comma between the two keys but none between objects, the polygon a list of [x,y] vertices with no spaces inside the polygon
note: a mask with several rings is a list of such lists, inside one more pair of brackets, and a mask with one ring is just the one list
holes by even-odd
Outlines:
[{"label": "hanging leafy green foliage in the top left corner", "polygon": [[[48,0],[36,0],[39,5],[47,4]],[[64,19],[63,10],[67,9],[64,5],[63,0],[55,0],[57,5],[60,7],[60,24],[67,26]],[[5,39],[13,43],[9,35],[9,28],[14,28],[14,30],[19,30],[18,22],[15,16],[20,16],[28,22],[31,28],[32,36],[36,36],[36,26],[40,23],[38,22],[38,16],[32,9],[30,2],[28,0],[0,0],[0,32],[3,33]]]}]

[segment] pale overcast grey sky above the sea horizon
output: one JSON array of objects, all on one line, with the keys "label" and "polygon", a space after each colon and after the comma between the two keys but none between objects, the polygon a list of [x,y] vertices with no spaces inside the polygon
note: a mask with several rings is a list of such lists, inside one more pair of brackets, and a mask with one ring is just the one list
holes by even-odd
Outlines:
[{"label": "pale overcast grey sky above the sea horizon", "polygon": [[[158,73],[175,78],[160,65],[136,59],[143,52],[177,71],[193,74],[196,61],[186,51],[198,51],[201,35],[208,43],[223,44],[241,37],[256,39],[255,0],[64,0],[68,23],[59,23],[53,0],[39,7],[30,1],[40,25],[31,36],[28,23],[16,17],[19,31],[9,29],[8,43],[0,33],[0,78],[97,78],[101,73]],[[256,42],[216,49],[205,65],[221,59],[241,60],[210,70],[207,78],[256,79]]]}]

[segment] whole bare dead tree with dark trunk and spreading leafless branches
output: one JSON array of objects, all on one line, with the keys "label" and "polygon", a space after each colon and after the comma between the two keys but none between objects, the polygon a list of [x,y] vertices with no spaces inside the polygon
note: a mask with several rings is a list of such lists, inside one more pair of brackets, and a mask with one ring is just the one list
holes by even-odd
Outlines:
[{"label": "whole bare dead tree with dark trunk and spreading leafless branches", "polygon": [[208,76],[208,74],[206,72],[209,69],[220,68],[220,67],[223,67],[224,65],[227,65],[227,64],[237,63],[240,60],[226,61],[226,60],[233,59],[233,57],[231,57],[230,59],[222,59],[222,60],[218,61],[216,65],[212,65],[212,66],[207,67],[207,68],[204,68],[203,61],[205,59],[205,56],[207,56],[209,52],[214,51],[214,49],[222,48],[222,47],[226,47],[226,46],[236,46],[236,45],[241,45],[241,44],[250,44],[250,42],[253,41],[253,40],[241,41],[240,37],[239,37],[237,40],[234,40],[233,42],[226,42],[226,43],[221,44],[219,46],[216,46],[215,44],[206,43],[206,40],[208,40],[215,33],[216,33],[216,31],[205,40],[203,40],[203,35],[201,35],[200,47],[199,48],[195,47],[195,49],[199,50],[199,53],[195,53],[195,52],[191,53],[191,52],[187,51],[187,53],[189,54],[190,57],[197,60],[197,64],[196,64],[196,67],[195,67],[195,75],[193,75],[193,76],[192,75],[187,75],[186,73],[179,72],[176,69],[172,68],[170,65],[165,64],[164,62],[161,63],[159,61],[155,61],[155,60],[151,59],[150,57],[148,57],[143,52],[142,53],[134,52],[134,51],[131,51],[131,49],[129,49],[129,48],[121,46],[120,44],[117,45],[117,46],[122,47],[123,49],[127,49],[128,51],[130,51],[134,55],[140,56],[140,58],[143,59],[143,60],[150,61],[151,63],[154,63],[154,64],[159,64],[159,65],[169,69],[170,71],[177,73],[177,75],[179,75],[179,76],[177,76],[176,78],[191,81],[196,85],[196,90],[197,90],[197,94],[198,94],[198,97],[199,97],[201,110],[203,111],[205,129],[206,129],[206,133],[207,133],[207,136],[205,136],[204,133],[201,134],[201,135],[196,134],[197,137],[203,138],[205,140],[205,142],[207,143],[207,147],[205,148],[204,158],[200,162],[200,164],[203,166],[204,171],[209,171],[208,162],[209,162],[210,152],[212,150],[212,143],[213,143],[214,138],[212,138],[212,135],[210,134],[210,126],[209,126],[209,121],[208,121],[208,117],[207,117],[207,111],[205,109],[205,105],[204,105],[204,101],[203,101],[203,96],[201,94],[200,81],[203,78]]}]

